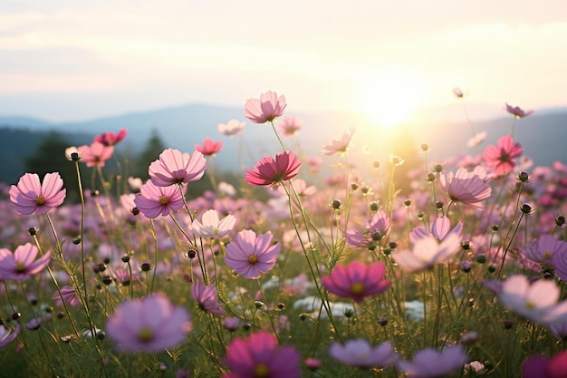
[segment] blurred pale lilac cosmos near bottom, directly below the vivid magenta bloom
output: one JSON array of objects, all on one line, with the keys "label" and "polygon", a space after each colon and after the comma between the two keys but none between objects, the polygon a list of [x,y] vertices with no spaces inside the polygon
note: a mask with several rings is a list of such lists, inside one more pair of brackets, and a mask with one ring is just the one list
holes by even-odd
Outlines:
[{"label": "blurred pale lilac cosmos near bottom, directly below the vivid magenta bloom", "polygon": [[391,344],[382,343],[372,347],[365,339],[349,340],[344,345],[332,343],[329,354],[341,363],[364,368],[386,367],[396,363],[399,358]]}]

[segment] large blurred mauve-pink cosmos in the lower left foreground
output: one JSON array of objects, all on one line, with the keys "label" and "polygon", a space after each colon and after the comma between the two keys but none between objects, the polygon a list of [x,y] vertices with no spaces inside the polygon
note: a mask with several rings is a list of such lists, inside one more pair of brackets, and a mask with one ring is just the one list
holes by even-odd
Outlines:
[{"label": "large blurred mauve-pink cosmos in the lower left foreground", "polygon": [[106,323],[106,333],[121,352],[161,352],[185,340],[191,330],[187,310],[167,296],[122,302]]}]

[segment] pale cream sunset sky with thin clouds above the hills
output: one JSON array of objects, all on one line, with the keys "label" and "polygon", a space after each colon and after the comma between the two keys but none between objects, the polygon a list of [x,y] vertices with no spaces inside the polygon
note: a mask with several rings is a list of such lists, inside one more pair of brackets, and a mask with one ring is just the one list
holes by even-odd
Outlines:
[{"label": "pale cream sunset sky with thin clouds above the hills", "polygon": [[0,115],[83,121],[189,102],[395,124],[468,102],[567,105],[563,0],[0,0]]}]

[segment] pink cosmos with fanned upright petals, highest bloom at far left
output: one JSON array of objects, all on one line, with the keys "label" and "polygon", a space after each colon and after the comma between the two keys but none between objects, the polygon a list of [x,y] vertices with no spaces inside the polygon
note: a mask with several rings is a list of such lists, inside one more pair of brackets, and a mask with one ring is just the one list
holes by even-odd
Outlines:
[{"label": "pink cosmos with fanned upright petals, highest bloom at far left", "polygon": [[10,203],[20,215],[43,214],[63,203],[67,189],[58,172],[47,173],[40,182],[35,173],[25,173],[17,185],[10,187]]}]

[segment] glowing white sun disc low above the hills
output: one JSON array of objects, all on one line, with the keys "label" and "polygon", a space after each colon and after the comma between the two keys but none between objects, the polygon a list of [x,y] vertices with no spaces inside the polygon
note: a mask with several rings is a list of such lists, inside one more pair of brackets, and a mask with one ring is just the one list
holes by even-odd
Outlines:
[{"label": "glowing white sun disc low above the hills", "polygon": [[423,87],[415,74],[396,70],[373,73],[358,88],[360,113],[380,129],[402,125],[424,104]]}]

